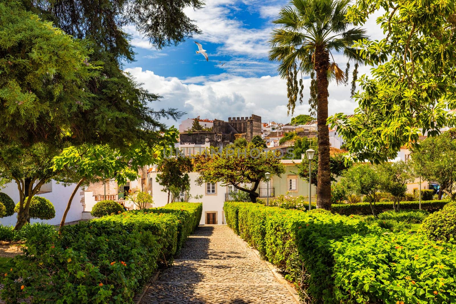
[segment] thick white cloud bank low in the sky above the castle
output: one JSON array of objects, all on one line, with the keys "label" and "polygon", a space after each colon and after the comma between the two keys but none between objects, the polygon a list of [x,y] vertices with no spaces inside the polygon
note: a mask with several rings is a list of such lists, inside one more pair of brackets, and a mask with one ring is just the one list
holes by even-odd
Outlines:
[{"label": "thick white cloud bank low in the sky above the castle", "polygon": [[[223,119],[233,116],[260,115],[263,121],[289,122],[287,116],[287,93],[285,80],[278,76],[240,77],[225,76],[189,78],[182,81],[176,77],[162,77],[141,67],[126,69],[144,83],[144,88],[163,96],[155,108],[178,108],[187,112],[183,117]],[[307,104],[310,79],[304,79],[304,102],[297,105],[295,115],[308,113]],[[356,103],[350,100],[349,88],[330,85],[329,114],[352,113]],[[167,122],[178,124],[178,122]]]}]

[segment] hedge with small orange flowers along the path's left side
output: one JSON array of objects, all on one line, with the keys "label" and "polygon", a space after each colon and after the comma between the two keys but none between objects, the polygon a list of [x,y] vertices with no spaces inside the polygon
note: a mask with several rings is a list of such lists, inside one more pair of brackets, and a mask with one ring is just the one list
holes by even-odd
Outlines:
[{"label": "hedge with small orange flowers along the path's left side", "polygon": [[[3,277],[8,303],[133,303],[152,274],[168,265],[200,221],[202,204],[171,203],[36,235]],[[179,240],[179,236],[181,239]]]}]

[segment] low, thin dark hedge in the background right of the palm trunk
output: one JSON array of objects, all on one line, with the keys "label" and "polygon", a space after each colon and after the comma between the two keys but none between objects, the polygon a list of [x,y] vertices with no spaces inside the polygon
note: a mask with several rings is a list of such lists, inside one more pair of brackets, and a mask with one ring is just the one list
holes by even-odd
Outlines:
[{"label": "low, thin dark hedge in the background right of the palm trunk", "polygon": [[[429,212],[439,211],[443,208],[449,201],[440,200],[440,201],[421,201],[421,209]],[[419,209],[419,201],[401,201],[400,210],[412,210]],[[369,203],[357,203],[357,204],[332,204],[331,210],[341,215],[372,215],[372,210]],[[393,202],[378,202],[375,204],[376,214],[393,210]]]}]

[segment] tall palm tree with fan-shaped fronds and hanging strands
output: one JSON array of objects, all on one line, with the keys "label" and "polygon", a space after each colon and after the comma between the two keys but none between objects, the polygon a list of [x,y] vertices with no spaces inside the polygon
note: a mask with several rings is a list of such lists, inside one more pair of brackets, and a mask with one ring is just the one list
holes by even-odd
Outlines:
[{"label": "tall palm tree with fan-shaped fronds and hanging strands", "polygon": [[[344,73],[334,62],[331,52],[343,53],[355,62],[362,62],[352,46],[367,38],[365,30],[351,27],[345,18],[349,0],[291,0],[280,10],[280,25],[271,34],[269,59],[278,61],[281,77],[287,79],[288,110],[293,113],[296,100],[302,103],[302,75],[311,75],[309,103],[317,114],[318,186],[317,208],[331,209],[331,171],[329,165],[328,84],[330,80],[347,84],[348,67]],[[330,61],[330,56],[332,61]],[[301,80],[297,81],[298,72]],[[316,75],[315,75],[316,74]],[[315,77],[316,76],[316,77]]]}]

